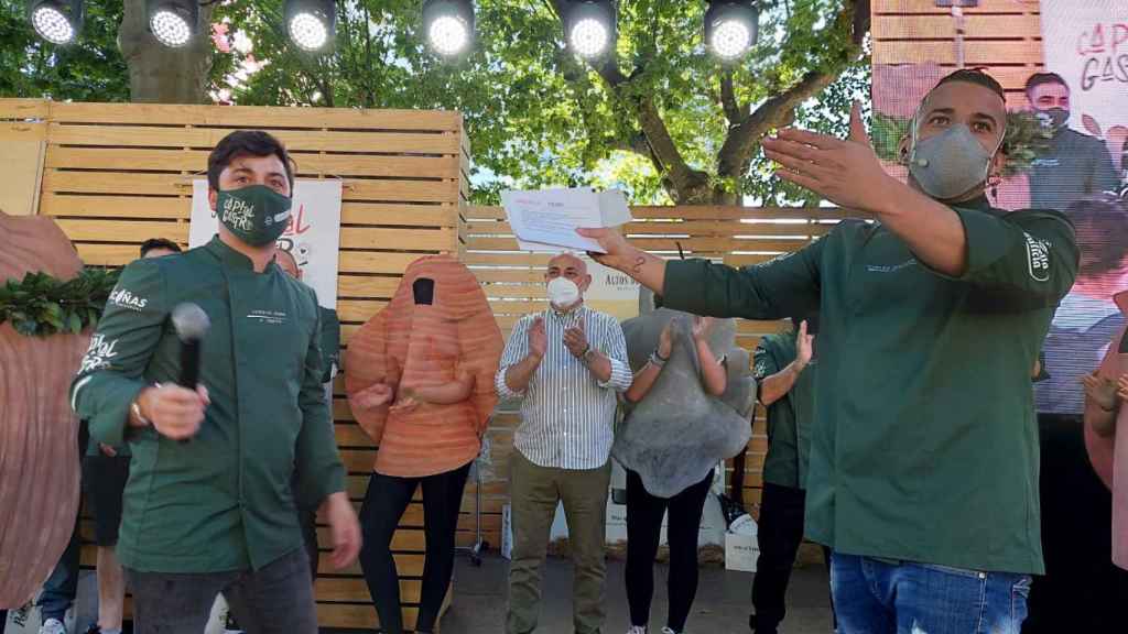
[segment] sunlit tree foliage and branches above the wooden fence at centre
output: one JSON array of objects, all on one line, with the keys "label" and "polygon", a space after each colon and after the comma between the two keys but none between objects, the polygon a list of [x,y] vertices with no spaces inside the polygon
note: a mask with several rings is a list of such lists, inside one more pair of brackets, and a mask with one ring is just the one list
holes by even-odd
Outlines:
[{"label": "sunlit tree foliage and branches above the wooden fence at centre", "polygon": [[704,1],[620,2],[618,49],[601,64],[566,51],[549,0],[478,0],[475,46],[455,62],[425,49],[415,2],[338,2],[335,50],[319,56],[285,41],[281,0],[236,0],[218,15],[270,61],[236,103],[461,111],[479,202],[512,185],[608,183],[636,202],[808,201],[770,178],[758,140],[792,121],[845,129],[869,83],[869,2],[761,6],[759,44],[732,67],[705,51]]}]

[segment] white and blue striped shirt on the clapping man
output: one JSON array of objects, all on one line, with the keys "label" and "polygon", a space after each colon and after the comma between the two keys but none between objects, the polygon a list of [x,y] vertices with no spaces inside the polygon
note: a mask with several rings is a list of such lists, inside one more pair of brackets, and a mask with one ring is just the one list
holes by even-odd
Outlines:
[{"label": "white and blue striped shirt on the clapping man", "polygon": [[[548,350],[525,394],[505,385],[505,371],[529,353],[529,327],[544,317]],[[607,382],[596,379],[564,345],[564,331],[583,319],[592,350],[611,362]],[[596,469],[607,464],[615,425],[616,391],[626,391],[633,376],[623,328],[610,315],[585,306],[571,312],[546,310],[526,315],[513,326],[495,385],[503,399],[522,398],[521,424],[513,447],[535,465],[561,469]]]}]

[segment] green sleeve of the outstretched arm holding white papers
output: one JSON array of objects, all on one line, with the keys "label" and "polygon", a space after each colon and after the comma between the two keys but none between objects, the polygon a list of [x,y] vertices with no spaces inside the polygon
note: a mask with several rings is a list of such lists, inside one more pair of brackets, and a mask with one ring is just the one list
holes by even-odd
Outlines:
[{"label": "green sleeve of the outstretched arm holding white papers", "polygon": [[828,237],[740,270],[705,259],[668,262],[662,306],[694,315],[746,319],[804,315],[819,303],[819,261]]}]

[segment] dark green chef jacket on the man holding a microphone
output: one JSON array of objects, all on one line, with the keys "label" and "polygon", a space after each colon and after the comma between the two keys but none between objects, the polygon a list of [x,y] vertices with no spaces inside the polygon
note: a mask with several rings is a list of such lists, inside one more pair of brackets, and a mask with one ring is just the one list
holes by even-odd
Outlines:
[{"label": "dark green chef jacket on the man holding a microphone", "polygon": [[[127,415],[143,387],[177,380],[180,344],[168,317],[185,301],[211,319],[201,361],[211,405],[180,443],[127,428]],[[255,273],[218,238],[125,267],[71,386],[91,437],[124,438],[133,452],[117,544],[124,566],[257,570],[302,547],[296,504],[344,491],[320,334],[312,289],[273,263]]]}]

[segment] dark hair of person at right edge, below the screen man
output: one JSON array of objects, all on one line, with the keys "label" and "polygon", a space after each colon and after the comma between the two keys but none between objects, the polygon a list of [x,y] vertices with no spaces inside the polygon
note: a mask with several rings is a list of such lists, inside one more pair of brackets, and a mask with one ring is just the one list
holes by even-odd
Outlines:
[{"label": "dark hair of person at right edge, below the screen man", "polygon": [[[1072,203],[1065,211],[1077,228],[1077,246],[1082,252],[1081,275],[1095,276],[1117,271],[1128,257],[1128,204],[1102,194]],[[1082,227],[1092,228],[1095,240],[1081,240]]]}]

